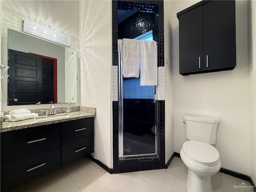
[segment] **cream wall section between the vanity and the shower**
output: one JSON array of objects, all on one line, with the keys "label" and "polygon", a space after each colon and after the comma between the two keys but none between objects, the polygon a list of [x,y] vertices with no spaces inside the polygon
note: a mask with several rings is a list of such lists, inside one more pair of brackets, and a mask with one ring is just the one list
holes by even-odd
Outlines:
[{"label": "cream wall section between the vanity and the shower", "polygon": [[79,1],[81,105],[96,107],[93,156],[112,168],[112,4]]}]

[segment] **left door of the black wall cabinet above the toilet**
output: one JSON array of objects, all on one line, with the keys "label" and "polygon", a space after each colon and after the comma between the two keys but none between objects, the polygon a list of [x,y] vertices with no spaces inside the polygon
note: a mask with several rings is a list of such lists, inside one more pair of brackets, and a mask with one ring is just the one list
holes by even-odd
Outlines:
[{"label": "left door of the black wall cabinet above the toilet", "polygon": [[180,74],[204,69],[203,37],[202,6],[179,16]]}]

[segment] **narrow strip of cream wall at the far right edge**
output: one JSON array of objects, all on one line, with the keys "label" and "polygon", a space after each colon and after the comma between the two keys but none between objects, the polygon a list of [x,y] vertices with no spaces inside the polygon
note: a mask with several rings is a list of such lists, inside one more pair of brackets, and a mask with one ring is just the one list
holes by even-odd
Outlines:
[{"label": "narrow strip of cream wall at the far right edge", "polygon": [[248,1],[248,65],[251,102],[251,178],[256,183],[256,1]]}]

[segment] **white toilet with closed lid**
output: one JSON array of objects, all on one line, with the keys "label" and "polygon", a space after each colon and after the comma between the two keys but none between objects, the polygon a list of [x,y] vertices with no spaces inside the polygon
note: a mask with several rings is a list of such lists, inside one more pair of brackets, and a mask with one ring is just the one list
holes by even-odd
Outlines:
[{"label": "white toilet with closed lid", "polygon": [[216,143],[216,129],[220,122],[216,117],[184,115],[186,138],[180,157],[188,167],[186,186],[188,192],[212,192],[211,175],[221,167]]}]

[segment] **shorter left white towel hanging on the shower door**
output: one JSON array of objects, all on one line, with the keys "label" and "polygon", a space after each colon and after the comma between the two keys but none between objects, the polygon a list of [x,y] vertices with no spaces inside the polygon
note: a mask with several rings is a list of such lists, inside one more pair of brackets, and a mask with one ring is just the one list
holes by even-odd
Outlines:
[{"label": "shorter left white towel hanging on the shower door", "polygon": [[123,39],[122,60],[124,77],[138,78],[140,75],[140,41]]}]

